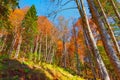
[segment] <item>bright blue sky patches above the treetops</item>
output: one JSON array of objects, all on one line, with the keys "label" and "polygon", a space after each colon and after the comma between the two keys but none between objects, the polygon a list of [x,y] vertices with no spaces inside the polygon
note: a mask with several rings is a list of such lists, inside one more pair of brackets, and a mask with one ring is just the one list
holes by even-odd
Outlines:
[{"label": "bright blue sky patches above the treetops", "polygon": [[[51,0],[20,0],[19,6],[20,8],[24,8],[25,6],[31,6],[35,5],[37,9],[37,15],[44,15],[47,16],[48,13],[52,12],[52,10],[56,9],[58,6],[54,3],[50,2]],[[63,3],[65,3],[67,0],[64,0]],[[76,7],[75,2],[70,2],[63,8],[70,8],[70,7]],[[65,18],[76,18],[78,19],[80,17],[77,9],[71,9],[71,10],[65,10],[62,12],[59,12],[58,16],[64,16]]]}]

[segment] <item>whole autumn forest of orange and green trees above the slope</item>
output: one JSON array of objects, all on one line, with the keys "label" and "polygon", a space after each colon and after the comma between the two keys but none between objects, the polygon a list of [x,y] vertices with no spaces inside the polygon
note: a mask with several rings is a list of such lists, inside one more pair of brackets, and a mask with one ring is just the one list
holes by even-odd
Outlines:
[{"label": "whole autumn forest of orange and green trees above the slope", "polygon": [[18,0],[0,0],[0,54],[55,64],[86,79],[120,79],[120,3],[86,0],[88,17],[84,0],[73,1],[81,17],[70,30],[62,16],[54,25],[34,5],[19,9]]}]

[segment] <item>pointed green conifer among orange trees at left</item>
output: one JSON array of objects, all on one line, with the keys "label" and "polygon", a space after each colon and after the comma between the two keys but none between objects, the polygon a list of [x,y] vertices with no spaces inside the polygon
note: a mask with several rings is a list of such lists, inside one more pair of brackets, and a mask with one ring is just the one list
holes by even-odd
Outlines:
[{"label": "pointed green conifer among orange trees at left", "polygon": [[35,6],[32,5],[22,22],[22,28],[24,29],[21,33],[23,36],[22,49],[25,50],[25,52],[29,52],[30,49],[33,52],[34,39],[38,33],[37,19]]}]

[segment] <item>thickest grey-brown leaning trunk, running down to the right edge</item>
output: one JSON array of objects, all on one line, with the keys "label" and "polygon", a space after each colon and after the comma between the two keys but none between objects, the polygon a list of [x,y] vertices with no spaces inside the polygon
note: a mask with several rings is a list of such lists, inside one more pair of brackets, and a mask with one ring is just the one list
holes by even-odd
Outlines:
[{"label": "thickest grey-brown leaning trunk, running down to the right edge", "polygon": [[108,39],[107,32],[105,30],[102,20],[100,19],[100,15],[99,15],[97,9],[95,8],[94,1],[93,0],[87,0],[87,1],[89,4],[89,7],[90,7],[90,11],[92,13],[92,17],[95,20],[95,23],[98,25],[98,30],[102,37],[102,42],[103,42],[105,51],[106,51],[111,63],[113,64],[115,72],[120,77],[120,75],[119,75],[120,74],[120,60],[117,57],[109,39]]}]

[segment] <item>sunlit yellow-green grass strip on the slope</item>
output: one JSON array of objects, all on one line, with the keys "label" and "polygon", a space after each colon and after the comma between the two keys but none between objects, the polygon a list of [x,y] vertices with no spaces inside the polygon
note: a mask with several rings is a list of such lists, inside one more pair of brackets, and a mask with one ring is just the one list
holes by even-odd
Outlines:
[{"label": "sunlit yellow-green grass strip on the slope", "polygon": [[29,61],[24,61],[24,63],[27,65],[32,64],[35,69],[43,71],[50,80],[84,80],[77,75],[70,74],[68,71],[56,65],[47,63],[35,64]]}]

